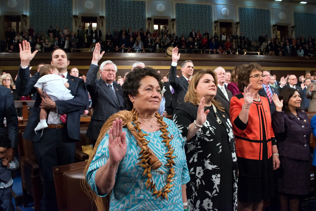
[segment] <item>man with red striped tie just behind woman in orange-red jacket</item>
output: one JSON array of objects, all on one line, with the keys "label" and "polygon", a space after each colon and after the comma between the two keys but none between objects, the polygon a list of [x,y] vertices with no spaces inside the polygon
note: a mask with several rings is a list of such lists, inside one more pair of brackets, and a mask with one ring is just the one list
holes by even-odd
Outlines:
[{"label": "man with red striped tie just behind woman in orange-red jacket", "polygon": [[272,100],[272,95],[276,93],[277,96],[279,96],[279,90],[275,87],[270,86],[270,81],[271,81],[270,73],[264,70],[263,74],[265,75],[265,77],[263,78],[263,88],[259,90],[258,93],[267,97],[269,101],[270,113],[272,117],[273,112],[276,110],[276,106],[274,105],[274,102]]}]

